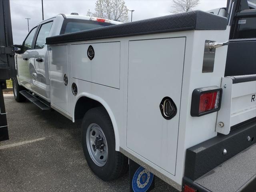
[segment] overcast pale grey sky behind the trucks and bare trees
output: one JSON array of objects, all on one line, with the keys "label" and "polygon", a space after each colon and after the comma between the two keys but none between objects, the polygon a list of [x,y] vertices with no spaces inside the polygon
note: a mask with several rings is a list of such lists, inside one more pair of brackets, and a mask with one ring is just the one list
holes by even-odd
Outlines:
[{"label": "overcast pale grey sky behind the trucks and bare trees", "polygon": [[[57,14],[70,14],[76,12],[79,15],[86,15],[87,11],[94,11],[96,0],[44,0],[44,19]],[[226,0],[200,0],[195,9],[211,10],[214,8],[226,7]],[[133,21],[146,18],[153,18],[170,14],[172,0],[125,0],[130,10],[135,10],[132,15]],[[12,17],[12,34],[14,44],[22,44],[28,34],[29,20],[30,29],[42,21],[41,0],[10,0]],[[130,18],[129,12],[129,18]]]}]

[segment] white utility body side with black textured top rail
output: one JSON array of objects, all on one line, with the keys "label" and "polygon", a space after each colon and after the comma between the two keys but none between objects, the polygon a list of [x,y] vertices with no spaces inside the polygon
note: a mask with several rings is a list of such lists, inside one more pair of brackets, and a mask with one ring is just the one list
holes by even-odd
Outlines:
[{"label": "white utility body side with black textured top rail", "polygon": [[[190,14],[178,17],[180,21],[182,18],[193,20]],[[198,14],[202,16],[200,19],[205,19],[205,13],[198,12],[196,17]],[[120,24],[64,34],[46,41],[48,46],[56,46],[49,57],[51,65],[55,59],[53,52],[63,52],[60,48],[67,46],[66,56],[57,54],[66,57],[69,72],[70,113],[61,111],[74,121],[76,102],[81,97],[100,102],[112,120],[116,150],[181,191],[186,149],[217,135],[216,112],[201,117],[190,115],[193,90],[220,86],[224,76],[227,47],[216,49],[213,72],[202,73],[205,42],[226,42],[229,28],[226,29],[225,22],[225,28],[218,30],[211,30],[214,29],[212,25],[204,30],[194,30],[202,29],[196,26],[201,20],[193,20],[192,25],[190,22],[174,24],[175,18],[165,16],[137,22],[136,25],[150,23],[154,27],[142,26],[135,34],[128,28],[130,24]],[[157,31],[154,24],[160,21],[166,21],[167,26]],[[183,26],[188,27],[187,30]],[[110,44],[114,46],[108,50]],[[89,46],[94,48],[92,62],[86,58]],[[109,54],[102,53],[101,46]],[[61,67],[62,63],[56,62],[56,67],[58,65]],[[61,73],[63,86],[64,72]],[[72,94],[72,83],[78,88],[76,96]],[[162,116],[159,108],[166,96],[172,98],[177,107],[176,116],[170,120]],[[61,104],[58,107],[60,109]]]}]

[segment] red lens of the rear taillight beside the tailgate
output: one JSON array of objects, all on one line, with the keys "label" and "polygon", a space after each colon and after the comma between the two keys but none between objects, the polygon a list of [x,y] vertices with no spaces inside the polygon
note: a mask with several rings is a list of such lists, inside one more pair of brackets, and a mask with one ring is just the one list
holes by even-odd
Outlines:
[{"label": "red lens of the rear taillight beside the tailgate", "polygon": [[220,91],[200,94],[199,113],[218,108]]}]

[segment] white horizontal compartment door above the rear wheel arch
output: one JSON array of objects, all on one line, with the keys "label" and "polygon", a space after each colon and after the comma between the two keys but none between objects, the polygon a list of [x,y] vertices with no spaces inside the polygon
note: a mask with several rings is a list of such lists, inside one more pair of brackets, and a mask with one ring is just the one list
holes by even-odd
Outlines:
[{"label": "white horizontal compartment door above the rear wheel arch", "polygon": [[[87,55],[92,46],[94,57]],[[120,88],[120,42],[71,45],[72,77]]]}]

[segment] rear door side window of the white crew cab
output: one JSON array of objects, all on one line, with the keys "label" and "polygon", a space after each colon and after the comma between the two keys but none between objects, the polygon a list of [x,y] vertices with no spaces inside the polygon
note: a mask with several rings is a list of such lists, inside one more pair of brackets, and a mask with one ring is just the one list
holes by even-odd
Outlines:
[{"label": "rear door side window of the white crew cab", "polygon": [[35,49],[42,49],[45,47],[45,39],[49,36],[50,30],[52,27],[52,21],[42,24],[38,36],[36,38]]}]

